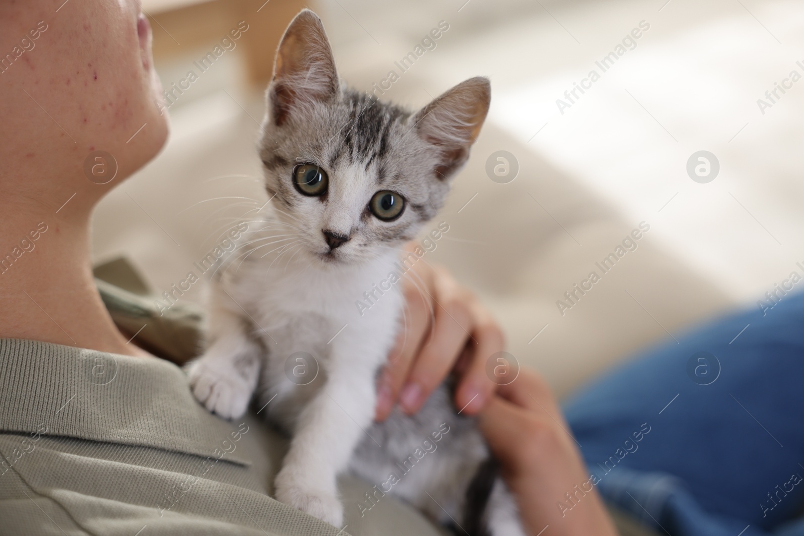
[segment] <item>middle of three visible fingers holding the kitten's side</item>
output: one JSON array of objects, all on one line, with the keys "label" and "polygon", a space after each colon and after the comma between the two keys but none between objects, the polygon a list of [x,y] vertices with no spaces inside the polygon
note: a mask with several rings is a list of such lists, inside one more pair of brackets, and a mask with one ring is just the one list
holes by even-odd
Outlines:
[{"label": "middle of three visible fingers holding the kitten's side", "polygon": [[446,378],[470,337],[472,317],[466,296],[451,280],[437,284],[433,331],[413,362],[400,404],[406,413],[419,411],[430,393]]}]

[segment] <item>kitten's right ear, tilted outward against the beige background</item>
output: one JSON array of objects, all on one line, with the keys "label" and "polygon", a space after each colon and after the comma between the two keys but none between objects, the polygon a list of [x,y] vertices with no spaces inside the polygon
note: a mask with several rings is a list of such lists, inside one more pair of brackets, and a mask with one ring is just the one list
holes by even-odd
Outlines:
[{"label": "kitten's right ear, tilted outward against the beige background", "polygon": [[440,162],[433,170],[436,178],[449,178],[469,158],[490,102],[489,80],[476,76],[457,84],[413,117],[420,137],[441,149]]}]

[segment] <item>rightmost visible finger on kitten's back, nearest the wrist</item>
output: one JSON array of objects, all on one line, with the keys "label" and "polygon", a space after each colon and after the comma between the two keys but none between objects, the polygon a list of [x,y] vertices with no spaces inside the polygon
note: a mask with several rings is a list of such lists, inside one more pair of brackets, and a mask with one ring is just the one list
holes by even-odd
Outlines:
[{"label": "rightmost visible finger on kitten's back, nearest the wrist", "polygon": [[474,303],[473,339],[470,341],[470,358],[455,393],[455,405],[466,415],[475,415],[497,390],[486,370],[489,358],[505,347],[503,330],[491,319],[485,309]]}]

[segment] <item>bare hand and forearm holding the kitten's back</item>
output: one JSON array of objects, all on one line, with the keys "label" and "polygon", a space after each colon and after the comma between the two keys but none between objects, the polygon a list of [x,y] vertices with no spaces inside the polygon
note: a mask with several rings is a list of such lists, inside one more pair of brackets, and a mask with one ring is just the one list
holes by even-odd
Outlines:
[{"label": "bare hand and forearm holding the kitten's back", "polygon": [[[549,387],[522,369],[498,390],[486,376],[486,362],[505,343],[490,313],[442,268],[419,262],[408,274],[404,329],[379,378],[377,420],[388,417],[397,399],[406,413],[416,413],[457,370],[455,406],[467,415],[479,413],[481,432],[503,464],[528,534],[550,525],[551,534],[616,536],[597,490],[585,491],[589,474]],[[576,493],[576,485],[585,495],[562,511],[559,501]]]}]

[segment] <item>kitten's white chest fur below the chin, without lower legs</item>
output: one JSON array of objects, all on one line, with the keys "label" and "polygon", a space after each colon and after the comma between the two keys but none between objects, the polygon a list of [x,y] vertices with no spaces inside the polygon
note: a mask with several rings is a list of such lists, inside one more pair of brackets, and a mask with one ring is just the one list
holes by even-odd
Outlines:
[{"label": "kitten's white chest fur below the chin, without lower legs", "polygon": [[[397,252],[359,266],[322,269],[304,260],[232,264],[221,285],[244,309],[265,348],[256,389],[265,415],[289,431],[329,378],[355,391],[373,387],[373,375],[391,350],[400,324],[399,284],[384,291],[373,282],[395,271]],[[329,268],[329,267],[324,267]],[[362,309],[371,295],[371,308]],[[367,376],[371,382],[359,385]]]}]

